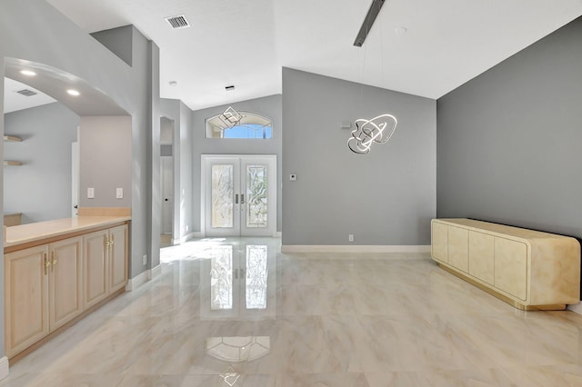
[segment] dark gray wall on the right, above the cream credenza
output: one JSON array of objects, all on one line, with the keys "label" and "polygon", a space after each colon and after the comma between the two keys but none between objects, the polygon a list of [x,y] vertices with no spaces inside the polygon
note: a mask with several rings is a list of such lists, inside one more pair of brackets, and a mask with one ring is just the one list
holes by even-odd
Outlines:
[{"label": "dark gray wall on the right, above the cream credenza", "polygon": [[582,236],[582,18],[437,102],[437,216]]}]

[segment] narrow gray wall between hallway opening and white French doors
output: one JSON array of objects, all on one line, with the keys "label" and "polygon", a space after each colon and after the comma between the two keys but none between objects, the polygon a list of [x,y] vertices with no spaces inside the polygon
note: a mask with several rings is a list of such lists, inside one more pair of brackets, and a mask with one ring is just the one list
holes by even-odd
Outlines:
[{"label": "narrow gray wall between hallway opening and white French doors", "polygon": [[[174,242],[179,243],[193,227],[192,110],[173,99],[160,100],[160,112],[174,123]],[[161,202],[160,202],[161,205]],[[186,230],[186,225],[188,226]]]}]

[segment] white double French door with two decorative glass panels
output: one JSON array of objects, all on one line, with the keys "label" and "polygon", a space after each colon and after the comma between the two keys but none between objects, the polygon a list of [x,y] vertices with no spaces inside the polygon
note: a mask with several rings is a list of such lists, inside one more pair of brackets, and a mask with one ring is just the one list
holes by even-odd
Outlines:
[{"label": "white double French door with two decorative glass panels", "polygon": [[276,155],[202,155],[207,236],[276,234]]}]

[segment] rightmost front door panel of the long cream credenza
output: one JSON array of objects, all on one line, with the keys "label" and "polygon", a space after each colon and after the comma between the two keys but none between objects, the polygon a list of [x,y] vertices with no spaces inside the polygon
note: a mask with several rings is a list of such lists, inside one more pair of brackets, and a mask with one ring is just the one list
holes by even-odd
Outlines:
[{"label": "rightmost front door panel of the long cream credenza", "polygon": [[520,300],[527,297],[526,243],[495,238],[495,287]]}]

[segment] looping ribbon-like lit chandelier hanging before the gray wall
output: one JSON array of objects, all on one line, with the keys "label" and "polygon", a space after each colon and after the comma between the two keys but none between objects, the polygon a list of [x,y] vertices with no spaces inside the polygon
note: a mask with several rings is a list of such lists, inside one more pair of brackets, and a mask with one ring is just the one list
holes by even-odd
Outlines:
[{"label": "looping ribbon-like lit chandelier hanging before the gray wall", "polygon": [[347,147],[355,154],[367,154],[372,144],[386,144],[396,131],[398,121],[392,114],[382,114],[371,120],[356,120],[356,129],[347,140]]}]

